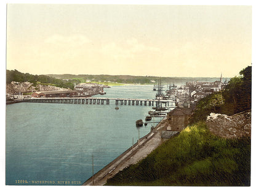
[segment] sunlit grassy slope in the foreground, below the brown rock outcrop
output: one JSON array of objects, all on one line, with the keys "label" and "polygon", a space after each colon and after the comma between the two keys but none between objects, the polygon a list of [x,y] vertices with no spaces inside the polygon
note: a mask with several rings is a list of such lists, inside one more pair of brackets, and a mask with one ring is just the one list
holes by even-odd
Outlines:
[{"label": "sunlit grassy slope in the foreground, below the brown rock outcrop", "polygon": [[249,186],[250,139],[222,139],[196,123],[106,185]]}]

